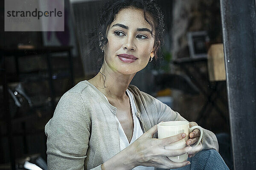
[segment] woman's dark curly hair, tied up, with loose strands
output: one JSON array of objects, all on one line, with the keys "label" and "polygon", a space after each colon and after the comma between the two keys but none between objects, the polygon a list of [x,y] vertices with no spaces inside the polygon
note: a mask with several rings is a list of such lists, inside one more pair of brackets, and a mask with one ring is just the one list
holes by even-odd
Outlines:
[{"label": "woman's dark curly hair, tied up, with loose strands", "polygon": [[[163,45],[163,34],[165,24],[163,21],[163,12],[155,0],[108,0],[99,11],[99,20],[97,27],[90,34],[90,53],[96,52],[99,56],[98,67],[102,66],[105,45],[108,43],[106,31],[108,26],[116,19],[116,14],[123,8],[142,9],[144,18],[152,28],[152,37],[154,37],[154,57],[161,56],[160,46]],[[154,32],[154,34],[153,34]]]}]

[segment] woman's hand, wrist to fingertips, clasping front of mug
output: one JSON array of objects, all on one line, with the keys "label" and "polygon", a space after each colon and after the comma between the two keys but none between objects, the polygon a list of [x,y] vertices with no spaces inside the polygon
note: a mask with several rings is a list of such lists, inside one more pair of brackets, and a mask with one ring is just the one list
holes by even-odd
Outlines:
[{"label": "woman's hand, wrist to fingertips, clasping front of mug", "polygon": [[131,144],[132,150],[134,150],[134,156],[136,157],[136,166],[151,166],[162,167],[165,169],[174,169],[178,167],[184,167],[190,164],[189,161],[176,163],[168,159],[166,156],[179,156],[184,153],[188,153],[191,147],[185,147],[178,150],[168,150],[169,144],[177,142],[186,137],[185,133],[180,133],[176,136],[171,136],[164,139],[154,139],[154,133],[157,132],[157,125],[152,127],[146,133],[144,133],[139,139]]}]

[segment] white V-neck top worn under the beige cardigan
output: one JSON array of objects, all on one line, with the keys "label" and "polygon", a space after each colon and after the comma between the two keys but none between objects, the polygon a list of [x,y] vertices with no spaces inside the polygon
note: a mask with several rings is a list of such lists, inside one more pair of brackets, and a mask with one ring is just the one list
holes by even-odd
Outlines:
[{"label": "white V-neck top worn under the beige cardigan", "polygon": [[[140,121],[137,118],[137,116],[135,115],[135,113],[137,113],[137,108],[136,108],[136,105],[135,105],[135,102],[134,102],[133,95],[132,95],[131,91],[129,91],[128,89],[126,90],[126,92],[127,92],[128,96],[129,96],[129,99],[130,99],[132,117],[133,117],[133,121],[134,121],[134,129],[133,129],[133,135],[132,135],[132,138],[131,138],[131,142],[129,143],[129,141],[127,139],[127,136],[125,135],[125,132],[122,128],[122,125],[120,124],[119,120],[116,117],[116,121],[119,123],[118,133],[119,133],[119,136],[120,136],[120,151],[125,149],[125,147],[128,147],[136,139],[138,139],[141,135],[143,135],[143,131],[142,131],[142,128],[140,126]],[[106,99],[107,99],[107,97],[106,97]],[[134,167],[132,170],[154,170],[154,167],[137,166],[137,167]]]}]

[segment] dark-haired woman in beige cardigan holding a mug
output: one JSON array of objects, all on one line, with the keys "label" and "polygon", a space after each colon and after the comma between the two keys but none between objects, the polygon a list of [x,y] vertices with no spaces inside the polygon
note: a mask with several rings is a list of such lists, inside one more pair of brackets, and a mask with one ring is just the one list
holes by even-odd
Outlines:
[{"label": "dark-haired woman in beige cardigan holding a mug", "polygon": [[[163,14],[153,0],[112,0],[105,4],[94,41],[103,58],[102,67],[95,77],[79,82],[61,97],[45,127],[49,170],[179,168],[190,161],[175,163],[166,156],[189,153],[191,159],[198,152],[205,156],[202,149],[218,150],[217,139],[209,130],[204,130],[198,147],[190,147],[198,141],[199,130],[194,130],[189,134],[188,147],[168,150],[168,144],[186,134],[153,138],[157,123],[186,119],[129,85],[134,75],[157,57],[163,28]],[[225,166],[216,151],[210,152],[207,154],[221,160],[219,166]]]}]

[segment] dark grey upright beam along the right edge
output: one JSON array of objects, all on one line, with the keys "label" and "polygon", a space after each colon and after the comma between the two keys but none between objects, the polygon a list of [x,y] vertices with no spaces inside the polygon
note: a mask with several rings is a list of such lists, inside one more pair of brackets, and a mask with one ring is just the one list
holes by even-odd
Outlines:
[{"label": "dark grey upright beam along the right edge", "polygon": [[256,167],[255,0],[220,0],[235,170]]}]

